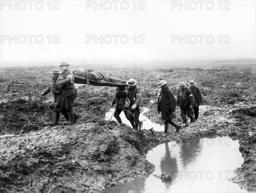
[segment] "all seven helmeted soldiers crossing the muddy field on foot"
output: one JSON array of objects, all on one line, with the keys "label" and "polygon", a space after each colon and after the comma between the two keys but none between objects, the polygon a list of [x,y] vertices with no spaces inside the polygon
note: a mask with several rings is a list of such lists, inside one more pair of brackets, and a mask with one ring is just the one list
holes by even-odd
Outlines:
[{"label": "all seven helmeted soldiers crossing the muddy field on foot", "polygon": [[[44,96],[48,93],[54,94],[54,112],[55,119],[49,125],[58,125],[60,114],[63,114],[67,122],[65,125],[73,125],[75,119],[79,117],[73,112],[73,102],[76,99],[77,91],[74,86],[74,75],[68,69],[69,64],[62,62],[59,65],[63,72],[57,68],[52,70],[53,78],[50,85],[41,93]],[[175,108],[180,107],[180,116],[183,119],[185,126],[189,126],[186,116],[190,118],[190,122],[195,122],[199,115],[199,105],[203,105],[201,91],[196,87],[196,82],[189,81],[190,88],[186,88],[185,82],[180,82],[177,94],[177,100],[172,90],[166,85],[167,81],[161,80],[158,87],[161,88],[159,93],[157,108],[158,114],[161,112],[162,119],[165,123],[163,136],[168,135],[169,124],[176,128],[176,132],[180,131],[181,125],[178,125],[174,118],[176,118]],[[143,100],[141,97],[140,87],[137,81],[133,78],[129,79],[126,86],[121,86],[116,89],[116,94],[111,103],[112,107],[115,105],[113,116],[122,124],[120,114],[123,111],[125,117],[131,123],[133,129],[138,131],[143,125],[143,121],[139,120],[140,108],[143,107]]]}]

